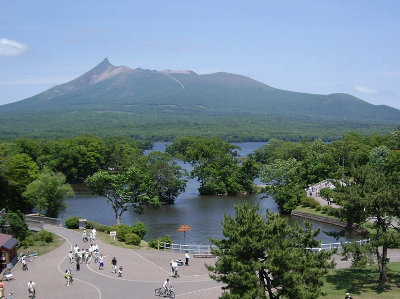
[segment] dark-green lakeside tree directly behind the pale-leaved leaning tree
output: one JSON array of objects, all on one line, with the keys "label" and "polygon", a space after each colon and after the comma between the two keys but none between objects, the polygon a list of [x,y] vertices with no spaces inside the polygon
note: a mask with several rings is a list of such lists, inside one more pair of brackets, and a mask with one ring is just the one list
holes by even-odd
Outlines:
[{"label": "dark-green lakeside tree directly behind the pale-leaved leaning tree", "polygon": [[189,176],[189,173],[168,153],[149,153],[146,166],[155,184],[153,193],[161,203],[174,203],[176,197],[185,191],[187,180],[182,177]]}]

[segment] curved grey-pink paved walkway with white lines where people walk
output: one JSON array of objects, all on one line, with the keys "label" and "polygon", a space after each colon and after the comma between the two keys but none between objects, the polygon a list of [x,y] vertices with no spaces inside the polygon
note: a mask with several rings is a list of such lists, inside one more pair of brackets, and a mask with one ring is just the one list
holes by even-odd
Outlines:
[{"label": "curved grey-pink paved walkway with white lines where people walk", "polygon": [[[57,299],[148,299],[158,298],[154,289],[160,287],[170,275],[170,261],[183,259],[184,255],[157,250],[129,250],[105,244],[98,240],[99,254],[104,258],[104,269],[91,259],[88,264],[81,264],[80,271],[76,265],[69,264],[68,252],[77,244],[80,248],[88,248],[90,243],[83,243],[79,232],[46,226],[63,238],[66,242],[53,252],[34,258],[28,263],[29,271],[22,271],[20,263],[16,264],[12,273],[14,281],[4,282],[5,292],[14,294],[15,298],[27,298],[29,280],[36,284],[36,298]],[[112,273],[111,260],[115,257],[118,267],[123,267],[124,275],[118,278]],[[204,263],[214,264],[214,259],[193,259],[189,267],[179,267],[179,278],[170,278],[174,285],[175,297],[179,299],[217,299],[221,296],[222,284],[216,283],[208,276]],[[66,286],[64,273],[72,268],[74,283]]]}]

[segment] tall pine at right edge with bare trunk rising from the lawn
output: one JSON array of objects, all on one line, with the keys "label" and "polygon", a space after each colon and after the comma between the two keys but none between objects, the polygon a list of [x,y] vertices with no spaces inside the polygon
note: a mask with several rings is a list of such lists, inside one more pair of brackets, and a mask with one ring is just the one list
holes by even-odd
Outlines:
[{"label": "tall pine at right edge with bare trunk rising from the lawn", "polygon": [[[400,229],[396,225],[400,219],[399,180],[393,182],[386,173],[376,171],[370,165],[353,171],[352,176],[353,180],[348,180],[346,186],[336,186],[336,197],[343,203],[340,218],[356,223],[357,227],[373,219],[375,231],[366,236],[371,238],[371,250],[379,266],[379,281],[386,283],[387,250],[394,238],[400,240]],[[359,261],[369,260],[360,257],[360,254],[371,252],[367,249],[352,252],[353,261],[358,261],[357,267],[360,267]],[[349,256],[348,253],[345,258]]]}]

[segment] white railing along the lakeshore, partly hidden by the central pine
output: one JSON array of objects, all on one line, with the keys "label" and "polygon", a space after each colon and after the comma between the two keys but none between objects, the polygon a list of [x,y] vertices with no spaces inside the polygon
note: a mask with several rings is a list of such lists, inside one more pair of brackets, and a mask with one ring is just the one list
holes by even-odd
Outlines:
[{"label": "white railing along the lakeshore, partly hidden by the central pine", "polygon": [[[359,243],[360,245],[367,244],[371,239],[358,240],[353,241]],[[343,250],[343,244],[347,245],[352,242],[338,242],[338,243],[323,243],[321,244],[321,250],[329,251],[334,248],[337,248],[338,251]],[[182,244],[173,244],[158,241],[158,249],[163,251],[171,251],[171,252],[179,252],[185,253],[188,251],[190,254],[208,254],[211,253],[211,248],[217,248],[215,245],[182,245]],[[320,248],[307,248],[312,251],[319,251]]]}]

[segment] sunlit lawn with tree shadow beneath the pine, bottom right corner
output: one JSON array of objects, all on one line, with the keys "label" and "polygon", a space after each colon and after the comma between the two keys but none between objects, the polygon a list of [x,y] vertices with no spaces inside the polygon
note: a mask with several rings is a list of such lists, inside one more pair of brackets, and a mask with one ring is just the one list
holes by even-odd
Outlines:
[{"label": "sunlit lawn with tree shadow beneath the pine, bottom right corner", "polygon": [[331,270],[326,277],[320,299],[343,299],[346,293],[354,299],[398,299],[400,294],[400,263],[387,265],[388,283],[378,283],[377,265],[367,266],[362,271],[354,268]]}]

